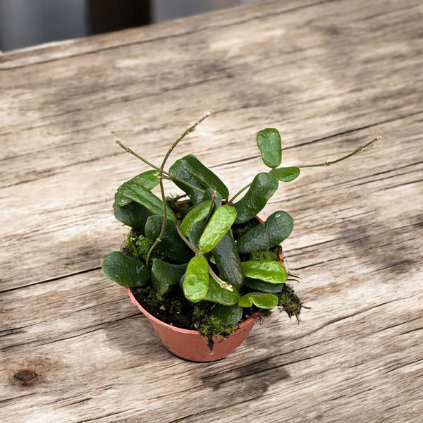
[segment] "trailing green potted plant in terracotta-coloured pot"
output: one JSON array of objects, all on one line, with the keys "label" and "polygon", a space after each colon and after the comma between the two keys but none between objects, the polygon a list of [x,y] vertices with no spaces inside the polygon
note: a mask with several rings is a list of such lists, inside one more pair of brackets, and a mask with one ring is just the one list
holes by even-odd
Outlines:
[{"label": "trailing green potted plant in terracotta-coloured pot", "polygon": [[[219,360],[243,342],[256,319],[279,307],[297,319],[302,302],[287,283],[281,243],[293,231],[286,212],[261,221],[257,214],[279,182],[297,178],[300,168],[329,166],[354,152],[321,164],[281,167],[281,137],[257,133],[264,165],[252,182],[230,195],[209,168],[189,154],[165,170],[171,152],[209,113],[173,142],[160,166],[123,183],[114,197],[114,215],[130,227],[121,250],[104,259],[102,270],[124,286],[172,353],[193,361]],[[163,180],[183,191],[167,197]],[[161,196],[152,192],[159,185]],[[240,197],[243,194],[242,197]]]}]

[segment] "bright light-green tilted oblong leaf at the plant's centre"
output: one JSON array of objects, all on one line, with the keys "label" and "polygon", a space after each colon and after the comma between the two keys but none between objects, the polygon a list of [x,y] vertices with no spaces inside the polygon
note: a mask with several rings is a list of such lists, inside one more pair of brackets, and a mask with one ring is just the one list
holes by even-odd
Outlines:
[{"label": "bright light-green tilted oblong leaf at the plant's centre", "polygon": [[198,247],[201,252],[209,252],[223,238],[232,223],[235,221],[236,212],[231,206],[221,206],[214,212],[200,238]]}]

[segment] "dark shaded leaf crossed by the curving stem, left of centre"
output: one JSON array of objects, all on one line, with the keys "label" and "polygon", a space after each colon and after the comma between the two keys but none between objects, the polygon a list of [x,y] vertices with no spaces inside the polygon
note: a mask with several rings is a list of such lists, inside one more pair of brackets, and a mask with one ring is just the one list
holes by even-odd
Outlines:
[{"label": "dark shaded leaf crossed by the curving stem, left of centre", "polygon": [[[152,243],[160,235],[161,226],[163,226],[162,216],[154,215],[149,216],[147,219],[147,223],[145,223],[145,235],[147,235],[147,238]],[[166,222],[166,230],[156,248],[168,255],[176,264],[188,263],[192,255],[194,255],[188,245],[180,238],[176,225],[172,221]]]}]

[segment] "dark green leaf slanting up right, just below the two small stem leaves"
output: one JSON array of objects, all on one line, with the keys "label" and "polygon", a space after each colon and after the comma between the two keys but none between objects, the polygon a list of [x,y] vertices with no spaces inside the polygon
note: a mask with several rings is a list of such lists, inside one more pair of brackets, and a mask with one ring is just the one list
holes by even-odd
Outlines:
[{"label": "dark green leaf slanting up right, just below the two small stem leaves", "polygon": [[235,223],[244,223],[257,216],[278,189],[278,184],[278,180],[269,173],[256,175],[244,197],[233,204],[237,215]]}]

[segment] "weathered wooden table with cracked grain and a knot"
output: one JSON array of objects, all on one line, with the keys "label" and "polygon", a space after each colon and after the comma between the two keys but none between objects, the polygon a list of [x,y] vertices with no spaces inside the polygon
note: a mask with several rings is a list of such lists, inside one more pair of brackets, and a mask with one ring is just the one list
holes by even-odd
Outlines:
[{"label": "weathered wooden table with cracked grain and a knot", "polygon": [[[423,5],[264,1],[0,56],[0,420],[421,422]],[[304,169],[262,213],[311,307],[232,355],[173,357],[100,264],[126,229],[114,190],[196,152],[232,192],[281,131]]]}]

